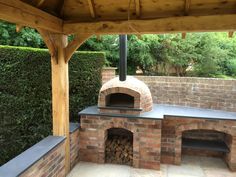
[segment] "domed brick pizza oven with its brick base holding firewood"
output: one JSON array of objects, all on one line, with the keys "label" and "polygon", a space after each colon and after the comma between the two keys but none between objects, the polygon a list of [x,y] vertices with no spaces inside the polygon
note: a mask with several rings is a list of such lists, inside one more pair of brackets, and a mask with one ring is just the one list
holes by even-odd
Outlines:
[{"label": "domed brick pizza oven with its brick base holding firewood", "polygon": [[105,83],[98,106],[81,115],[81,160],[159,169],[161,120],[145,116],[152,108],[150,90],[140,80]]}]

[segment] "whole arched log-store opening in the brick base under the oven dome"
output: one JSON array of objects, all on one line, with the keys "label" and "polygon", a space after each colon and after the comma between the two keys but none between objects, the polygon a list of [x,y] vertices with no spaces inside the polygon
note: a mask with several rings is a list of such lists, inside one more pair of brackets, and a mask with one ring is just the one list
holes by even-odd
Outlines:
[{"label": "whole arched log-store opening in the brick base under the oven dome", "polygon": [[107,130],[105,162],[133,165],[133,133],[123,128]]}]

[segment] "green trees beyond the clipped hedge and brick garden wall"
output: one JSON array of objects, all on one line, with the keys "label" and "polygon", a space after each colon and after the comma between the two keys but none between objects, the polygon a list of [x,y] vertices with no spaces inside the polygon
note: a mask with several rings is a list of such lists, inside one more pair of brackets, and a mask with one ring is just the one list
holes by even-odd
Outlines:
[{"label": "green trees beyond the clipped hedge and brick garden wall", "polygon": [[[16,32],[15,25],[0,21],[0,44],[46,48],[36,30],[23,28]],[[69,40],[73,36],[69,36]],[[103,51],[107,66],[119,66],[118,35],[103,35],[88,39],[79,50]],[[128,74],[141,69],[145,75],[173,74],[177,76],[219,75],[235,76],[236,37],[227,33],[188,33],[128,36]]]}]

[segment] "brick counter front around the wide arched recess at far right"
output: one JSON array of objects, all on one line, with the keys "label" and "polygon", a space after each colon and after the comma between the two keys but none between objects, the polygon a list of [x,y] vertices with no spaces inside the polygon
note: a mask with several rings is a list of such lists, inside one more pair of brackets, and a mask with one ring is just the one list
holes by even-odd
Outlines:
[{"label": "brick counter front around the wide arched recess at far right", "polygon": [[[220,137],[219,132],[225,134],[224,141],[230,149],[227,154],[222,154],[229,168],[236,171],[236,122],[230,120],[207,120],[194,118],[180,118],[166,116],[162,121],[162,138],[161,138],[161,162],[168,164],[181,164],[182,156],[182,136],[185,131],[204,130],[203,138],[206,133],[214,139]],[[207,131],[206,131],[207,130]],[[217,131],[215,134],[209,130]],[[198,131],[198,134],[200,131]],[[186,136],[186,134],[185,134]],[[193,135],[191,135],[193,136]],[[185,153],[190,153],[188,150]],[[202,152],[195,153],[199,154]],[[207,152],[204,152],[206,155]],[[216,155],[212,152],[208,152]],[[217,154],[219,155],[219,154]]]}]

